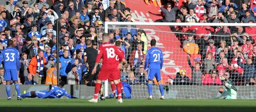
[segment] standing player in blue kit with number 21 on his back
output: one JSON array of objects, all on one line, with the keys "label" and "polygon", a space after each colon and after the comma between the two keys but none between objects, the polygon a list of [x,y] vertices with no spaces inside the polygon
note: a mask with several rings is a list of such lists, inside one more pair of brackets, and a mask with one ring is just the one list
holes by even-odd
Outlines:
[{"label": "standing player in blue kit with number 21 on his back", "polygon": [[164,59],[163,59],[163,52],[161,49],[156,47],[156,40],[152,39],[150,41],[151,48],[147,51],[146,61],[145,61],[145,70],[148,70],[148,93],[149,93],[149,100],[152,100],[152,83],[153,78],[156,77],[156,80],[159,85],[159,90],[161,92],[161,100],[164,100],[164,86],[161,83],[161,73],[160,69],[163,67]]}]

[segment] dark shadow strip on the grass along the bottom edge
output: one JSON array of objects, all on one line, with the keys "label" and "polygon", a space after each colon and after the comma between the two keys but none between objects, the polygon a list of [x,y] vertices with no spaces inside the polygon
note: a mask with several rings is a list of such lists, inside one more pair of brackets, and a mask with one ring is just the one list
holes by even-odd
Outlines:
[{"label": "dark shadow strip on the grass along the bottom edge", "polygon": [[232,111],[232,112],[241,112],[241,111],[255,111],[256,108],[248,108],[248,107],[216,107],[216,106],[126,106],[126,107],[31,107],[31,108],[22,108],[22,107],[1,107],[1,111],[36,111],[36,112],[47,112],[47,111],[60,111],[60,112],[76,112],[76,111],[122,111],[122,112],[133,112],[133,111],[140,111],[140,112],[148,112],[148,111],[154,111],[154,112],[163,112],[163,111],[188,111],[188,112],[199,112],[199,111],[205,111],[205,112],[218,112],[218,111]]}]

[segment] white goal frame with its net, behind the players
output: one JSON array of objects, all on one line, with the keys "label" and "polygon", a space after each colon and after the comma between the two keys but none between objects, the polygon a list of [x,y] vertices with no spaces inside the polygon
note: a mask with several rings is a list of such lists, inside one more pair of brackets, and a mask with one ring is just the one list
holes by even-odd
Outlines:
[{"label": "white goal frame with its net, behind the players", "polygon": [[[106,22],[97,29],[98,42],[109,33],[111,42],[121,41],[128,64],[121,79],[132,88],[132,99],[148,97],[144,62],[150,40],[163,51],[161,83],[166,99],[212,99],[223,87],[220,76],[237,88],[237,99],[256,99],[256,24]],[[142,51],[142,52],[140,52]],[[153,97],[159,99],[156,79]],[[106,86],[106,94],[111,89]]]}]

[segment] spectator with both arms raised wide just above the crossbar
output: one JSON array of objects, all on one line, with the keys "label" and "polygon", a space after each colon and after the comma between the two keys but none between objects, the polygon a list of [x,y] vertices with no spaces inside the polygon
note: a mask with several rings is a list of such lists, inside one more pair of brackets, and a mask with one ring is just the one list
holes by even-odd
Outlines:
[{"label": "spectator with both arms raised wide just above the crossbar", "polygon": [[[178,6],[179,4],[177,4]],[[161,5],[159,5],[159,7],[161,8],[161,11],[164,13],[164,19],[158,19],[155,22],[175,22],[175,15],[176,12],[178,10],[178,7],[175,6],[174,8],[172,8],[172,4],[167,3],[166,4],[166,8],[163,8]]]}]

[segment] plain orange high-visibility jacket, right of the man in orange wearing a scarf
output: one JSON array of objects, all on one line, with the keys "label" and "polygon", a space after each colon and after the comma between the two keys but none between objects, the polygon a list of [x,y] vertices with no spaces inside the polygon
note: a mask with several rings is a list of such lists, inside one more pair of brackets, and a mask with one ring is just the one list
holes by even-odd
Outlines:
[{"label": "plain orange high-visibility jacket, right of the man in orange wearing a scarf", "polygon": [[57,70],[56,68],[50,68],[47,72],[45,84],[57,84],[57,76],[53,74],[54,70]]}]

